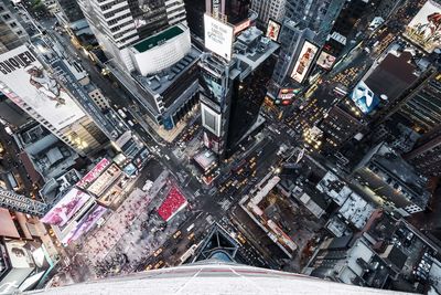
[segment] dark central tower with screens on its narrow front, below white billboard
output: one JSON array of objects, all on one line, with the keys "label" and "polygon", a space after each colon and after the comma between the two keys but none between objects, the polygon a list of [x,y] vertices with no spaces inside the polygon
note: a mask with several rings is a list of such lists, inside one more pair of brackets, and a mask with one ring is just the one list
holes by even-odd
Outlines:
[{"label": "dark central tower with screens on its narrow front, below white billboard", "polygon": [[259,110],[279,45],[251,27],[237,36],[234,48],[230,61],[205,53],[200,62],[204,144],[219,159],[232,156],[261,126]]}]

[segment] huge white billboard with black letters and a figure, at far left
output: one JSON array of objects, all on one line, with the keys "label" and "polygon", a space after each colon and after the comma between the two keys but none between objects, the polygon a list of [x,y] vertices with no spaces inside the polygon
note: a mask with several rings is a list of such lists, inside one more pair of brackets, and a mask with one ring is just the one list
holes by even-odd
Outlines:
[{"label": "huge white billboard with black letters and a figure, at far left", "polygon": [[25,45],[0,55],[0,82],[8,98],[23,109],[31,107],[57,130],[85,116]]}]

